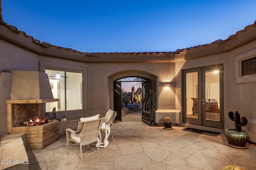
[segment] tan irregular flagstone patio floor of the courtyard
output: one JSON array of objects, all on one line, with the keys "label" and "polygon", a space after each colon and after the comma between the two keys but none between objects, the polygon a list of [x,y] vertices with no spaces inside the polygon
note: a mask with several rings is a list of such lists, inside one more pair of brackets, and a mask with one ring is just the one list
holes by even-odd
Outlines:
[{"label": "tan irregular flagstone patio floor of the courtyard", "polygon": [[256,145],[234,149],[227,145],[224,134],[217,137],[148,126],[142,122],[116,122],[112,126],[109,145],[100,149],[95,144],[71,145],[66,154],[66,137],[42,150],[28,150],[29,168],[44,170],[221,170],[237,164],[247,170],[256,169]]}]

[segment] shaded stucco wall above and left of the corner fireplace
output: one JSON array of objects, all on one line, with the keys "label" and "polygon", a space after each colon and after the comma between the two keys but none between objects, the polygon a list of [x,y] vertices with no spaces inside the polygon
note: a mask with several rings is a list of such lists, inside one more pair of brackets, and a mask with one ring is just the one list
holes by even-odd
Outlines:
[{"label": "shaded stucco wall above and left of the corner fireplace", "polygon": [[2,70],[36,70],[38,55],[0,39],[0,136],[7,135],[7,106],[12,89],[12,74]]}]

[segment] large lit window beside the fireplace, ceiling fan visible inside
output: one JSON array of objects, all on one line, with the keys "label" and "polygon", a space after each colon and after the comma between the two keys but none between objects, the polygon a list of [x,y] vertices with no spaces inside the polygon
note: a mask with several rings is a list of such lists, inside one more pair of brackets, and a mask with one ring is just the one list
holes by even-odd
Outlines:
[{"label": "large lit window beside the fireplace, ceiling fan visible inside", "polygon": [[54,98],[59,102],[46,103],[46,112],[82,109],[82,72],[46,68]]}]

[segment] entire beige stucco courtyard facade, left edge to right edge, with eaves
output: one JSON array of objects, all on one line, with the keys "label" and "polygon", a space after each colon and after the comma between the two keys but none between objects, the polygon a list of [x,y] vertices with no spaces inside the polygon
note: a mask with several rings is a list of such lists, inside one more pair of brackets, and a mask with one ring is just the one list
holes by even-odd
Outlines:
[{"label": "entire beige stucco courtyard facade, left edge to right edge, with eaves", "polygon": [[[256,56],[256,25],[250,25],[226,41],[175,53],[81,53],[40,43],[26,33],[0,21],[0,136],[7,134],[6,100],[10,100],[12,74],[3,70],[45,72],[45,67],[81,70],[83,72],[83,109],[60,115],[80,118],[88,113],[105,115],[113,109],[113,82],[126,76],[152,79],[156,92],[156,112],[181,111],[176,114],[177,125],[182,120],[182,69],[223,64],[224,66],[224,129],[234,128],[229,111],[239,111],[248,119],[243,127],[250,140],[256,142],[256,76],[243,78],[235,74],[241,58]],[[163,82],[171,82],[166,89]],[[44,105],[44,104],[42,104]],[[41,107],[41,115],[50,117]],[[158,110],[158,111],[157,111]]]}]

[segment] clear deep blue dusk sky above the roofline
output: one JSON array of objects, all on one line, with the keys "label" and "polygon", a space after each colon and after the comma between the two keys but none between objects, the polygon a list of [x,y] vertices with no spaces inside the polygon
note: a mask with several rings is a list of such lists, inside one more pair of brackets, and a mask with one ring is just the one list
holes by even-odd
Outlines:
[{"label": "clear deep blue dusk sky above the roofline", "polygon": [[227,39],[254,23],[255,6],[255,0],[2,0],[2,16],[41,42],[82,52],[176,51]]}]

